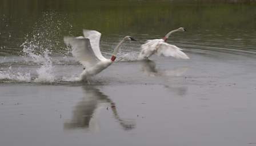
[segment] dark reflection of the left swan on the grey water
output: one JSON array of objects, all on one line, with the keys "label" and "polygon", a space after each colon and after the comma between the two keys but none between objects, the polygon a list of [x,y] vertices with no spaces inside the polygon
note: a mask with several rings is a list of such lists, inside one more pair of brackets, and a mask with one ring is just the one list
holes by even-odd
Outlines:
[{"label": "dark reflection of the left swan on the grey water", "polygon": [[99,132],[99,112],[103,107],[111,110],[114,118],[124,130],[135,128],[133,119],[119,117],[115,103],[98,88],[93,86],[82,87],[84,96],[81,102],[74,107],[73,117],[64,123],[65,129],[87,128],[91,132]]}]

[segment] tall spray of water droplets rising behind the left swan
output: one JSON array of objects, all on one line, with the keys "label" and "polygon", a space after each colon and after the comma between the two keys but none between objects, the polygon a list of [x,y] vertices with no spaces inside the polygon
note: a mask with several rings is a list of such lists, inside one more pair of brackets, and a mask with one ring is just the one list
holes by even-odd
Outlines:
[{"label": "tall spray of water droplets rising behind the left swan", "polygon": [[[33,32],[26,35],[25,42],[21,45],[23,56],[31,58],[34,63],[40,66],[37,69],[38,76],[34,82],[54,82],[55,75],[51,54],[56,52],[55,48],[58,48],[58,51],[61,50],[59,51],[60,54],[69,54],[70,52],[67,47],[62,47],[59,43],[62,41],[61,27],[65,19],[59,17],[61,15],[53,12],[43,13],[42,19],[35,23]],[[67,24],[69,25],[69,23]],[[71,28],[71,25],[69,27]]]}]

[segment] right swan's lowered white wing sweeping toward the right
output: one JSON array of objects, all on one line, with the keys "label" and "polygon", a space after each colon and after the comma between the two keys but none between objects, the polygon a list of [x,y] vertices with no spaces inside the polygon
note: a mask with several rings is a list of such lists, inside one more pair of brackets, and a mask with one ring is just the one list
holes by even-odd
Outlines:
[{"label": "right swan's lowered white wing sweeping toward the right", "polygon": [[174,46],[172,44],[168,44],[165,42],[161,42],[159,43],[157,48],[157,55],[173,56],[174,58],[177,58],[177,59],[189,59],[189,56],[187,56],[181,50],[182,49],[178,48],[177,46]]}]

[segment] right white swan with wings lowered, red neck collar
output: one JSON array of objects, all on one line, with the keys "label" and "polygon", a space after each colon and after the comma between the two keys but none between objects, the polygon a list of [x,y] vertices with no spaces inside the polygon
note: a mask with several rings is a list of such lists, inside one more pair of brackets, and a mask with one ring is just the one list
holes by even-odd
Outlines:
[{"label": "right white swan with wings lowered, red neck collar", "polygon": [[169,36],[177,31],[186,31],[186,29],[184,29],[183,27],[179,27],[179,29],[172,30],[167,33],[162,39],[147,40],[145,44],[141,45],[142,49],[139,53],[138,59],[148,59],[153,54],[157,54],[158,56],[173,56],[177,59],[189,59],[189,57],[181,51],[181,48],[166,43],[166,40],[169,38]]}]

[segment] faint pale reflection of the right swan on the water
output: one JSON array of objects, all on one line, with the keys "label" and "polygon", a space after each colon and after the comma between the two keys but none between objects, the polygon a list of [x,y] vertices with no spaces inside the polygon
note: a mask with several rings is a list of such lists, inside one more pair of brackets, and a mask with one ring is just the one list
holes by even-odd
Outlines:
[{"label": "faint pale reflection of the right swan on the water", "polygon": [[[156,64],[153,60],[146,59],[146,60],[141,60],[141,65],[142,65],[142,72],[149,76],[162,76],[163,79],[166,79],[166,76],[182,76],[188,69],[189,67],[179,67],[179,68],[174,68],[173,70],[166,70],[166,71],[158,71]],[[168,79],[173,79],[173,78],[168,78]],[[174,78],[175,79],[175,78]],[[172,83],[172,82],[171,82]],[[187,92],[187,87],[185,86],[177,86],[177,84],[171,84],[171,85],[165,85],[166,88],[169,88],[171,92],[174,92],[177,95],[185,95]]]}]

